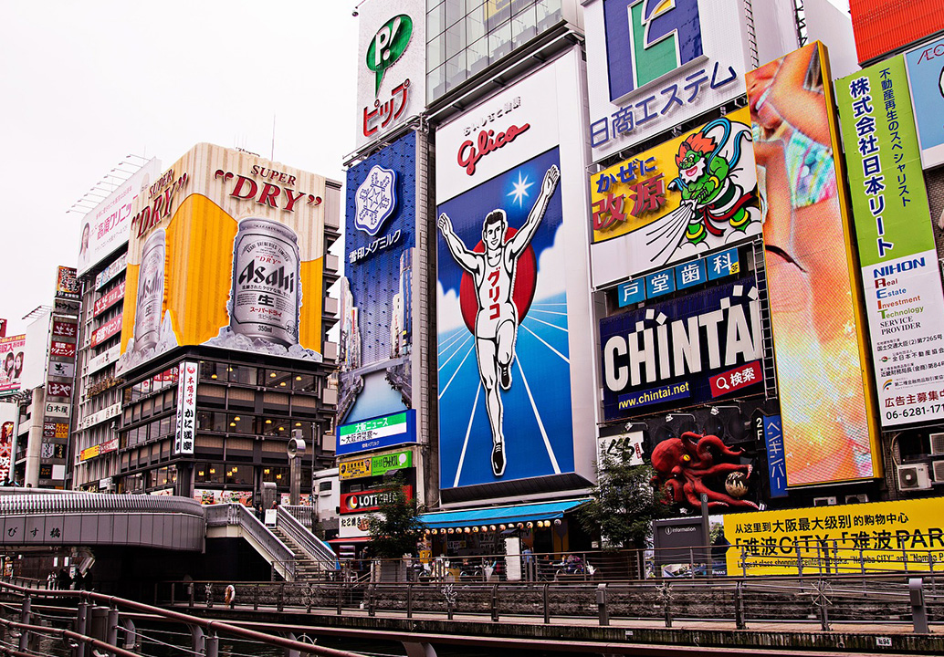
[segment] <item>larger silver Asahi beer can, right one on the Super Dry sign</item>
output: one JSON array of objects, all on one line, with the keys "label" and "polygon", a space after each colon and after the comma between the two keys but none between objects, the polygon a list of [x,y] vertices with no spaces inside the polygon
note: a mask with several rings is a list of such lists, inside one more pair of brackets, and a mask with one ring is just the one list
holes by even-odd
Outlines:
[{"label": "larger silver Asahi beer can, right one on the Super Dry sign", "polygon": [[292,228],[268,219],[244,219],[233,242],[229,328],[248,338],[298,344],[301,261]]}]

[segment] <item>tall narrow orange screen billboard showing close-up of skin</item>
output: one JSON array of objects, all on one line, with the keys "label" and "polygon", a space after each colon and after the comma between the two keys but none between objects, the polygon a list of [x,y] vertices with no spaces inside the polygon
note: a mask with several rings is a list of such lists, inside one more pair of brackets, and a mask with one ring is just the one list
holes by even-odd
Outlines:
[{"label": "tall narrow orange screen billboard showing close-up of skin", "polygon": [[[787,484],[881,476],[825,48],[747,76]],[[760,181],[763,180],[761,184]]]}]

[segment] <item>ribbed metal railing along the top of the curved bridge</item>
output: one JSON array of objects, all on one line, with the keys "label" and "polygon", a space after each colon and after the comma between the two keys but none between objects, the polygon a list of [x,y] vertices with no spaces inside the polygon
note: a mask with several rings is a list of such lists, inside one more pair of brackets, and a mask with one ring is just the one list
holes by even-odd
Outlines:
[{"label": "ribbed metal railing along the top of the curved bridge", "polygon": [[155,495],[115,495],[111,493],[79,493],[59,495],[24,493],[0,495],[0,515],[17,514],[114,514],[165,513],[204,517],[204,507],[187,497]]}]

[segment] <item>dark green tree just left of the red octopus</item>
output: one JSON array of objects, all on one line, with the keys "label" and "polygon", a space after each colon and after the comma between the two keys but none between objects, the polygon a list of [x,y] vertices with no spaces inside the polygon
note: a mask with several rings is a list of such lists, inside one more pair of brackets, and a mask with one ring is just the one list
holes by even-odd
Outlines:
[{"label": "dark green tree just left of the red octopus", "polygon": [[666,517],[671,509],[649,485],[653,474],[648,464],[630,465],[606,457],[598,464],[593,499],[580,509],[583,529],[599,531],[608,548],[645,548],[652,521]]}]

